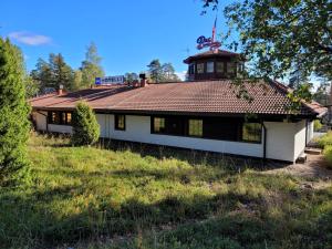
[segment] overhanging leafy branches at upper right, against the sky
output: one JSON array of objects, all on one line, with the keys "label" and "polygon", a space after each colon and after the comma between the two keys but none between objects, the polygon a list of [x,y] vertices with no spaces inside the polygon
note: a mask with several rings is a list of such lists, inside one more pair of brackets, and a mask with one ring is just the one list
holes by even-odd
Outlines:
[{"label": "overhanging leafy branches at upper right, against the sky", "polygon": [[[204,0],[205,8],[217,4]],[[282,79],[300,66],[303,76],[332,80],[331,0],[243,0],[224,12],[239,32],[229,48],[242,49],[255,76]]]}]

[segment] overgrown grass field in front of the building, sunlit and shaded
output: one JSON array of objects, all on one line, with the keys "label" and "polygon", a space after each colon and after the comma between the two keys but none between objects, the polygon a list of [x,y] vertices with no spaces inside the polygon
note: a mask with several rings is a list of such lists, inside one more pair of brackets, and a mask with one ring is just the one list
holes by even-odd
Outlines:
[{"label": "overgrown grass field in front of the building, sunlit and shaded", "polygon": [[222,156],[143,152],[31,135],[33,183],[0,189],[0,247],[332,248],[331,185],[303,188]]}]

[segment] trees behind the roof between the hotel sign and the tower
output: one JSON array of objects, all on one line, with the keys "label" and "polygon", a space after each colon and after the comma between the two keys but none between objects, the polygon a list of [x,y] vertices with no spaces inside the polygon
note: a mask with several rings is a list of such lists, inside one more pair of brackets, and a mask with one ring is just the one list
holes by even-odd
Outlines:
[{"label": "trees behind the roof between the hotel sign and the tower", "polygon": [[160,64],[159,60],[153,60],[148,65],[149,77],[154,83],[178,82],[179,77],[175,74],[172,63]]}]

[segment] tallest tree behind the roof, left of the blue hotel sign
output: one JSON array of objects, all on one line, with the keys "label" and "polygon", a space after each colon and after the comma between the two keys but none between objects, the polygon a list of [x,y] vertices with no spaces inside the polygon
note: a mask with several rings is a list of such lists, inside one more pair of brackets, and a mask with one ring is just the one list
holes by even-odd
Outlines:
[{"label": "tallest tree behind the roof, left of the blue hotel sign", "polygon": [[92,42],[87,46],[85,60],[82,62],[82,82],[83,86],[89,87],[94,84],[95,77],[104,76],[104,70],[101,66],[102,58],[97,54],[97,48]]}]

